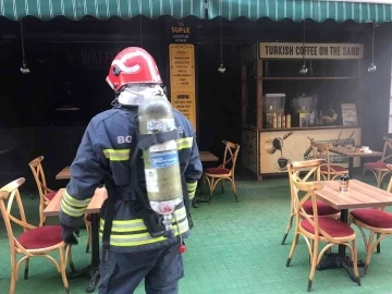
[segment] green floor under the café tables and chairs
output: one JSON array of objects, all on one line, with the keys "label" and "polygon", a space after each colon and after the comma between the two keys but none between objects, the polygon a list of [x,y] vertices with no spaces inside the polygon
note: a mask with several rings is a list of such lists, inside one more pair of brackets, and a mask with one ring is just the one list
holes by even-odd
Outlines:
[{"label": "green floor under the caf\u00e9 tables and chairs", "polygon": [[[370,176],[366,181],[373,183]],[[240,203],[234,201],[228,185],[224,194],[217,191],[211,205],[200,204],[193,210],[195,228],[186,242],[185,278],[180,293],[305,293],[310,267],[304,240],[299,240],[289,268],[285,261],[292,233],[286,245],[280,245],[290,206],[287,180],[237,181],[237,191]],[[36,224],[37,198],[32,200],[25,194],[24,205],[27,218]],[[0,240],[0,294],[5,294],[10,286],[10,252],[3,223]],[[90,259],[84,252],[85,242],[82,231],[79,245],[73,248],[77,268],[87,266]],[[362,240],[358,254],[365,258]],[[49,260],[32,259],[28,280],[23,280],[22,271],[16,293],[65,293],[61,277]],[[362,286],[344,269],[333,269],[317,271],[313,289],[315,293],[392,293],[391,277],[392,238],[387,238],[381,254],[373,255]],[[70,280],[72,293],[85,293],[86,282]],[[143,285],[136,293],[144,293]]]}]

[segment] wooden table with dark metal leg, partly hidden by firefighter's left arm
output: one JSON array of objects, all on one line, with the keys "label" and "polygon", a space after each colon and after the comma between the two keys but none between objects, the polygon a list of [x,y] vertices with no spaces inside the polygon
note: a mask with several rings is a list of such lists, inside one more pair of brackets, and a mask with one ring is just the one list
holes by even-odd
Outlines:
[{"label": "wooden table with dark metal leg, partly hidden by firefighter's left arm", "polygon": [[[60,188],[53,199],[44,209],[44,216],[54,217],[60,213],[60,206],[65,188]],[[87,293],[95,291],[99,281],[99,210],[108,197],[106,188],[97,188],[91,201],[87,206],[86,213],[91,215],[91,265],[75,273],[70,273],[70,279],[88,277]]]}]

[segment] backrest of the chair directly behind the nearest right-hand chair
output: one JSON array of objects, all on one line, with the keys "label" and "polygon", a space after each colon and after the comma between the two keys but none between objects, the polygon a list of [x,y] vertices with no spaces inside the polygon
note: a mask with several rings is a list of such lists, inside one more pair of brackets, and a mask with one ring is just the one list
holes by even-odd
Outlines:
[{"label": "backrest of the chair directly behind the nearest right-hand chair", "polygon": [[[323,159],[315,159],[315,160],[307,160],[307,161],[293,161],[287,164],[287,172],[289,172],[289,183],[290,183],[290,193],[292,197],[293,207],[295,207],[295,197],[297,197],[298,189],[295,187],[292,181],[292,175],[297,173],[296,179],[299,182],[308,182],[310,181],[320,181],[321,180],[321,172],[320,167],[323,164],[326,160]],[[303,176],[301,176],[301,172],[303,172]]]}]

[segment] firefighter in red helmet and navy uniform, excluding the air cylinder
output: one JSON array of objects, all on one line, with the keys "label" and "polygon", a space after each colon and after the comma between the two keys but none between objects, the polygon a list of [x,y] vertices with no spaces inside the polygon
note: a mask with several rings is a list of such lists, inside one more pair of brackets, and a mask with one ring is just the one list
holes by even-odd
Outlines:
[{"label": "firefighter in red helmet and navy uniform, excluding the air cylinder", "polygon": [[173,233],[168,236],[162,233],[160,216],[146,201],[137,145],[137,106],[148,97],[167,99],[158,68],[147,51],[130,47],[114,58],[107,82],[118,106],[93,118],[71,166],[60,211],[63,240],[77,243],[74,232],[95,189],[103,183],[108,199],[100,210],[103,249],[98,293],[133,293],[143,279],[146,293],[177,293],[183,277],[182,240],[192,228],[189,203],[203,173],[194,128],[182,113],[172,110],[179,128],[175,139],[184,200],[175,208]]}]

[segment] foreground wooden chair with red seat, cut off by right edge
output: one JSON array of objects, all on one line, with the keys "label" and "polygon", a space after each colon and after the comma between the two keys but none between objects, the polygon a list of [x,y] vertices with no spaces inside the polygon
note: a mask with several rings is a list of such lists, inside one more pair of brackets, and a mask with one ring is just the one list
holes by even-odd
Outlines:
[{"label": "foreground wooden chair with red seat, cut off by right edge", "polygon": [[[388,170],[392,171],[392,164],[388,164]],[[392,176],[387,188],[392,193]],[[392,195],[391,195],[392,197]],[[385,207],[381,208],[358,208],[350,211],[348,222],[354,223],[360,231],[364,238],[366,249],[366,261],[362,272],[362,277],[366,274],[370,265],[372,254],[377,250],[380,253],[380,242],[392,235],[392,213],[385,211]],[[366,237],[365,230],[368,230],[369,237]],[[376,241],[375,241],[376,234]]]}]

